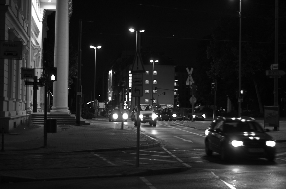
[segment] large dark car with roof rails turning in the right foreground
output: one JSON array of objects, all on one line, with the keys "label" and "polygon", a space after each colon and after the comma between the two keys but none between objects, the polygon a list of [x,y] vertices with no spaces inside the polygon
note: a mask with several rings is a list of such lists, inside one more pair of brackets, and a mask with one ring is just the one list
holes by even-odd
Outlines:
[{"label": "large dark car with roof rails turning in the right foreground", "polygon": [[[267,130],[266,130],[267,131]],[[231,157],[261,157],[273,161],[275,141],[262,126],[250,117],[217,117],[205,130],[205,148],[221,154],[222,160]]]}]

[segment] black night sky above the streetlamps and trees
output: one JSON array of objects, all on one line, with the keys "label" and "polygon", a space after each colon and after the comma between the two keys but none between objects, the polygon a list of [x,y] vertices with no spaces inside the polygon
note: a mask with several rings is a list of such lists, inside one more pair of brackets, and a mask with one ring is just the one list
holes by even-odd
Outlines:
[{"label": "black night sky above the streetlamps and trees", "polygon": [[[272,2],[275,5],[275,1]],[[243,7],[248,3],[261,1],[242,1],[242,14]],[[73,0],[72,4],[70,43],[78,49],[79,19],[82,19],[82,85],[86,96],[90,95],[94,86],[94,49],[90,45],[102,46],[96,51],[97,78],[103,76],[103,70],[110,68],[111,61],[119,53],[135,51],[136,33],[128,30],[131,26],[137,30],[145,29],[142,34],[143,48],[163,52],[177,65],[190,67],[195,63],[196,44],[211,34],[215,21],[225,16],[237,17],[239,11],[239,0]]]}]

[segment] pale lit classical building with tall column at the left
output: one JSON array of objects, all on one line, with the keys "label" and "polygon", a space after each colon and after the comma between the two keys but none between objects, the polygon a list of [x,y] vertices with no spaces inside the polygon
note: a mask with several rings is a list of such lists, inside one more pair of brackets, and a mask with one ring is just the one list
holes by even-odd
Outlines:
[{"label": "pale lit classical building with tall column at the left", "polygon": [[[69,114],[68,53],[72,1],[3,0],[0,3],[1,127],[9,132],[24,124],[31,113],[43,112],[44,95],[47,94],[43,94],[43,87],[33,89],[32,86],[25,86],[21,71],[22,68],[33,68],[33,76],[37,79],[43,77],[43,39],[48,30],[43,21],[46,10],[56,11],[54,67],[57,67],[58,74],[57,81],[53,84],[51,114]],[[14,52],[13,44],[19,44],[20,51]]]}]

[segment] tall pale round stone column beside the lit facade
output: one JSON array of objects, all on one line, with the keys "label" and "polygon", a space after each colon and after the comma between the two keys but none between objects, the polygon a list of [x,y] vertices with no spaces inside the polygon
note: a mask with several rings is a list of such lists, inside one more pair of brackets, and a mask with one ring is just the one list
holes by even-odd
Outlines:
[{"label": "tall pale round stone column beside the lit facade", "polygon": [[69,114],[68,71],[69,71],[69,15],[68,1],[56,3],[55,13],[55,57],[57,81],[53,83],[53,106],[50,114]]}]

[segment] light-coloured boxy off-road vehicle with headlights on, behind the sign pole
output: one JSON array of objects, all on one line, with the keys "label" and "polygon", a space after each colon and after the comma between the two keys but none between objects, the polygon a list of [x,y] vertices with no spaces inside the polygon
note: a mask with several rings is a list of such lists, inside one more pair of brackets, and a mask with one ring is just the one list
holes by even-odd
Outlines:
[{"label": "light-coloured boxy off-road vehicle with headlights on, behind the sign pole", "polygon": [[138,115],[137,105],[134,110],[134,125],[137,126],[137,118],[139,117],[140,123],[149,123],[149,125],[157,125],[157,115],[150,104],[140,104],[140,114]]}]

